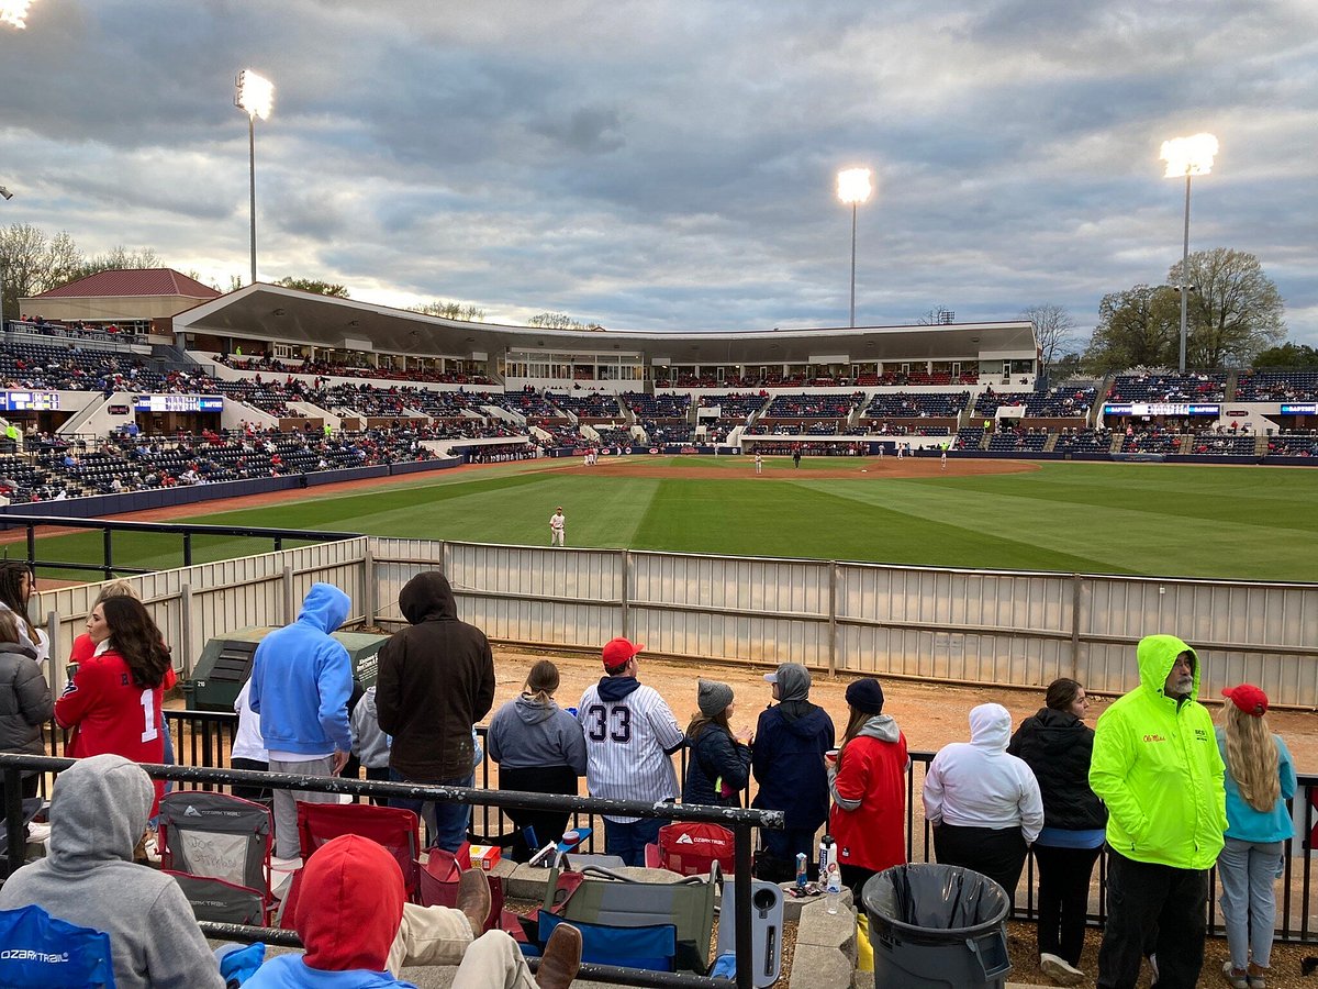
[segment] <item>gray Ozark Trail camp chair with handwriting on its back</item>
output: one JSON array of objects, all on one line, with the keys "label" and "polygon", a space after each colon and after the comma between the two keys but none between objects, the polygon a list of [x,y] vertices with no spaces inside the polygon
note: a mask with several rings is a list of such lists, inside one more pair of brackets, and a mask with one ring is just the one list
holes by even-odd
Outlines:
[{"label": "gray Ozark Trail camp chair with handwriting on its back", "polygon": [[274,903],[268,807],[175,790],[161,799],[159,831],[161,869],[178,880],[198,920],[265,926]]}]

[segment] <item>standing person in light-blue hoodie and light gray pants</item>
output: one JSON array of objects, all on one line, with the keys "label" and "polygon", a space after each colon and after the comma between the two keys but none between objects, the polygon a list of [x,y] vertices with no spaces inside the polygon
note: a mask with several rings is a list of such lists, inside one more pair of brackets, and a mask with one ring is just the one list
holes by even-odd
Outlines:
[{"label": "standing person in light-blue hoodie and light gray pants", "polygon": [[[343,625],[352,601],[332,584],[312,584],[298,620],[256,647],[248,702],[261,715],[272,773],[337,775],[352,752],[348,698],[352,659],[330,633]],[[274,853],[297,858],[298,800],[333,803],[335,794],[274,791]]]}]

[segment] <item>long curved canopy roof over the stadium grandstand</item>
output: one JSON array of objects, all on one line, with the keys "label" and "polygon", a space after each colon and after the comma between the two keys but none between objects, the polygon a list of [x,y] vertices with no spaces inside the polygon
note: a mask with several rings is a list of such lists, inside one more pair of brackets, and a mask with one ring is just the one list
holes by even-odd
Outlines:
[{"label": "long curved canopy roof over the stadium grandstand", "polygon": [[415,356],[494,356],[505,348],[641,353],[672,364],[803,364],[869,360],[1033,359],[1029,320],[755,332],[639,332],[542,330],[464,323],[387,306],[248,285],[174,316],[175,332],[239,336],[340,349]]}]

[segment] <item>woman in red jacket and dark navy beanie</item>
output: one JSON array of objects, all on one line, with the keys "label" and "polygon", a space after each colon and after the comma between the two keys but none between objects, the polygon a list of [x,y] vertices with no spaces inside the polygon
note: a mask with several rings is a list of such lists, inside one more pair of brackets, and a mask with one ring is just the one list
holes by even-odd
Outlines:
[{"label": "woman in red jacket and dark navy beanie", "polygon": [[905,861],[905,771],[911,765],[905,736],[883,713],[883,687],[873,676],[846,688],[850,707],[842,748],[829,766],[833,811],[829,831],[837,843],[842,882],[857,902],[875,873]]}]

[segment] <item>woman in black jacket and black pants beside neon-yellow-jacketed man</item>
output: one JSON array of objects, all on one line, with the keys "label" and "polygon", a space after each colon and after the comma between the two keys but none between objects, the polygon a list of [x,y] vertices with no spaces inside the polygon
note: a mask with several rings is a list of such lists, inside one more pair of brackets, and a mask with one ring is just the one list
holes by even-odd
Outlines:
[{"label": "woman in black jacket and black pants beside neon-yellow-jacketed man", "polygon": [[1039,967],[1058,985],[1075,985],[1086,978],[1078,965],[1107,810],[1089,789],[1094,729],[1085,724],[1085,688],[1068,678],[1053,680],[1045,703],[1021,721],[1007,752],[1029,765],[1044,798],[1044,829],[1033,847]]}]

